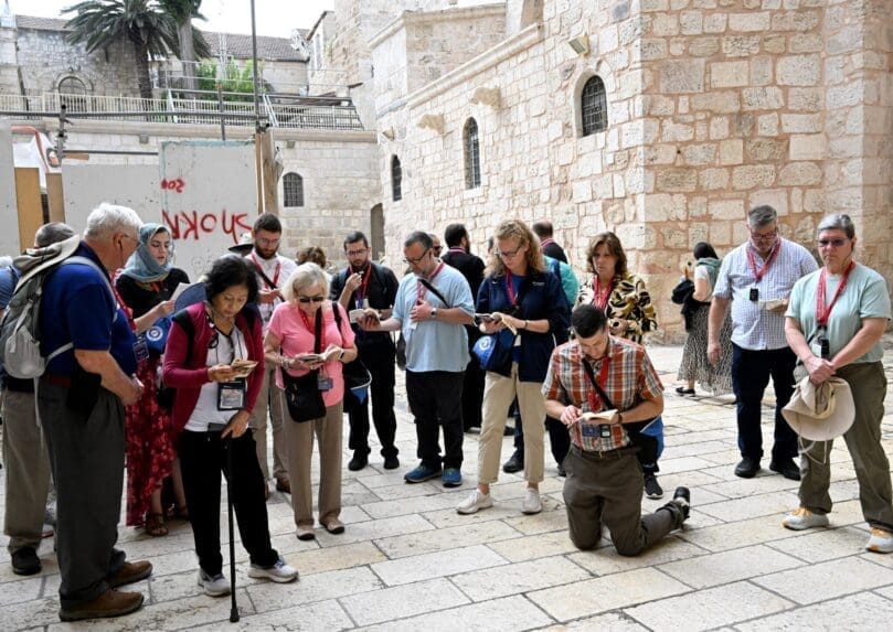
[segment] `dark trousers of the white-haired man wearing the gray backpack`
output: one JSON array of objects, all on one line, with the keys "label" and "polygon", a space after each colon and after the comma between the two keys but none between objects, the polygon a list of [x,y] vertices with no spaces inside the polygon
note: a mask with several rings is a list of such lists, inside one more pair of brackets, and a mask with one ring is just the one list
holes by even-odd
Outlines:
[{"label": "dark trousers of the white-haired man wearing the gray backpack", "polygon": [[65,405],[68,388],[41,379],[38,407],[56,485],[56,558],[63,609],[108,590],[124,566],[115,548],[124,485],[124,406],[99,388],[89,415]]}]

